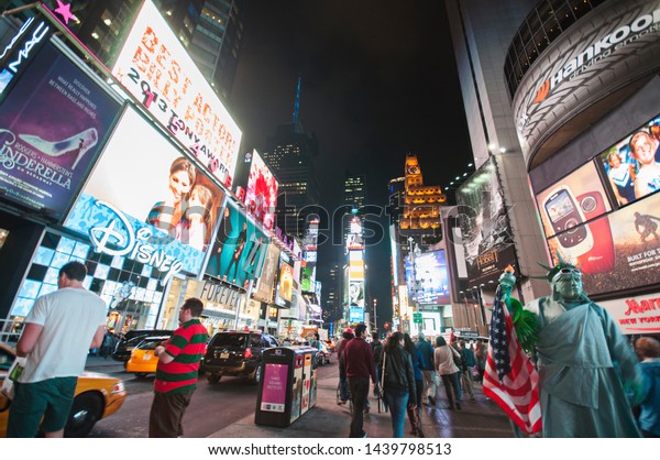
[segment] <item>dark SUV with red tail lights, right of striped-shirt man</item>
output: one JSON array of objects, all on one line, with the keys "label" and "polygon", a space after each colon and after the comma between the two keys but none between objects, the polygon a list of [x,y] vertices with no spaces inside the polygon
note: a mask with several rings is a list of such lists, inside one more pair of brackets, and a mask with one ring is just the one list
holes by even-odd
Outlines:
[{"label": "dark SUV with red tail lights, right of striped-shirt man", "polygon": [[257,384],[264,371],[262,353],[273,347],[279,347],[277,339],[258,330],[217,332],[209,340],[200,372],[210,383],[218,383],[222,375],[232,375],[245,376]]}]

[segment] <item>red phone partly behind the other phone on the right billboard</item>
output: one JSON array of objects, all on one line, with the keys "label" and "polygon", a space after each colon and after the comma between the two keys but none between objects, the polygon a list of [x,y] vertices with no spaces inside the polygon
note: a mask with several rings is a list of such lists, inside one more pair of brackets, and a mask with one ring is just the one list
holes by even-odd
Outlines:
[{"label": "red phone partly behind the other phone on the right billboard", "polygon": [[609,219],[604,216],[607,211],[603,195],[600,191],[587,191],[576,197],[580,209],[584,213],[592,236],[593,248],[578,256],[578,264],[583,273],[605,273],[614,269],[614,241]]}]

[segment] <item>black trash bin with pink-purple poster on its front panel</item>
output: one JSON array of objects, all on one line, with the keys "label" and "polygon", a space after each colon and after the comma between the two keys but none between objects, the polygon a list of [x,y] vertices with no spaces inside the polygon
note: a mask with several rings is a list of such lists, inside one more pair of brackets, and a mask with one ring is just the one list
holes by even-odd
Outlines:
[{"label": "black trash bin with pink-purple poster on its front panel", "polygon": [[317,352],[312,347],[264,351],[264,373],[254,412],[256,425],[287,427],[316,405]]}]

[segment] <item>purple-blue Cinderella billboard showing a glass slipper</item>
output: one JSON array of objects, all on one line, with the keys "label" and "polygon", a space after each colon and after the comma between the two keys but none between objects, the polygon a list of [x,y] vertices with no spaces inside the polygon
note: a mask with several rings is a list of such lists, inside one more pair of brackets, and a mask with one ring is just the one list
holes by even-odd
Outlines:
[{"label": "purple-blue Cinderella billboard showing a glass slipper", "polygon": [[0,106],[3,199],[61,220],[121,105],[52,43]]}]

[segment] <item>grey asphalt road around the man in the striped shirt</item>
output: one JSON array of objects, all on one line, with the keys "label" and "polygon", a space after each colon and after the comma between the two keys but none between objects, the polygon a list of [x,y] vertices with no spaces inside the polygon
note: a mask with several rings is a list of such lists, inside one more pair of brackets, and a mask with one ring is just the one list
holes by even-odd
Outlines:
[{"label": "grey asphalt road around the man in the striped shirt", "polygon": [[[337,362],[318,368],[319,379],[337,373]],[[124,381],[128,397],[119,412],[96,424],[90,438],[146,438],[148,412],[153,399],[153,375],[136,379],[123,371],[108,372]],[[258,385],[245,379],[226,376],[217,384],[199,380],[197,391],[184,417],[184,437],[209,435],[254,414]]]}]

